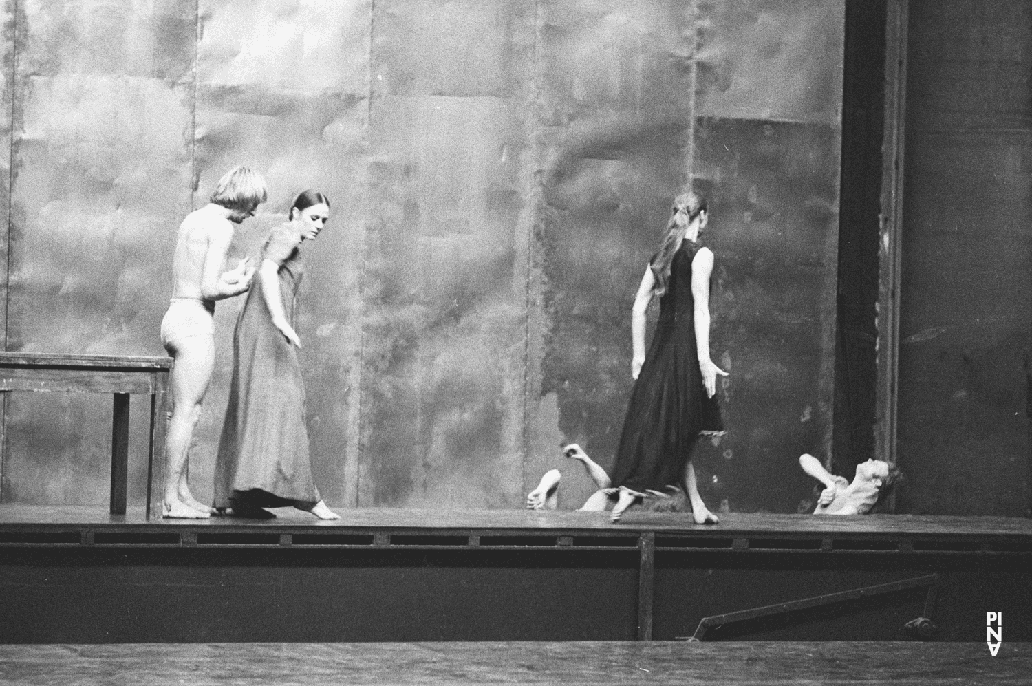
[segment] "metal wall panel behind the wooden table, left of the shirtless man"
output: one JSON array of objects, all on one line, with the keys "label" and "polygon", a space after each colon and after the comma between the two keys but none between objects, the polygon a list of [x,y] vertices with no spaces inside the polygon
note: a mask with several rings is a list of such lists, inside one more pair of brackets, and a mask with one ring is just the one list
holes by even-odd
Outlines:
[{"label": "metal wall panel behind the wooden table, left of the shirtless man", "polygon": [[[174,2],[12,4],[7,349],[158,354],[169,255],[190,209],[195,13]],[[139,501],[149,402],[130,407]],[[105,501],[110,412],[107,396],[10,394],[3,499]]]}]

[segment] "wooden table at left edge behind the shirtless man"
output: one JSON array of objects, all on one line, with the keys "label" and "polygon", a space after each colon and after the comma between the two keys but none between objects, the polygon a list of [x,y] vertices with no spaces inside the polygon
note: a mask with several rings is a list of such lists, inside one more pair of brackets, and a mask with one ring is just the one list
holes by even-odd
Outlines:
[{"label": "wooden table at left edge behind the shirtless man", "polygon": [[[170,357],[55,355],[0,352],[0,391],[112,393],[110,513],[124,515],[129,478],[129,395],[151,396],[147,460],[147,516],[164,485],[165,429]],[[157,461],[155,456],[158,457]]]}]

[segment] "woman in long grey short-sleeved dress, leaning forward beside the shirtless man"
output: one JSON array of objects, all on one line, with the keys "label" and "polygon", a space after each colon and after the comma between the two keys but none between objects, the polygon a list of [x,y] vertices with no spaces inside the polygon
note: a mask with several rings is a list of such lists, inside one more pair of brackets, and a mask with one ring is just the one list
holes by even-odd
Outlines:
[{"label": "woman in long grey short-sleeved dress, leaning forward beside the shirtless man", "polygon": [[233,377],[215,467],[215,507],[229,515],[266,519],[263,508],[294,507],[338,519],[312,478],[304,387],[294,331],[294,305],[303,268],[302,242],[329,220],[329,200],[305,191],[290,221],[269,233],[258,277],[233,333]]}]

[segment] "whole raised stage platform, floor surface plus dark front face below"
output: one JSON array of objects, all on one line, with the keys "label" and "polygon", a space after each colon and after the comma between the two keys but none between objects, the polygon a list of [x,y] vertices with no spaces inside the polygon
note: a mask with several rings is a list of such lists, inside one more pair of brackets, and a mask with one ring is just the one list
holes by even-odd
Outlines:
[{"label": "whole raised stage platform, floor surface plus dark front face below", "polygon": [[2,505],[0,643],[901,641],[921,617],[982,642],[987,612],[1032,641],[1024,519],[279,515]]}]

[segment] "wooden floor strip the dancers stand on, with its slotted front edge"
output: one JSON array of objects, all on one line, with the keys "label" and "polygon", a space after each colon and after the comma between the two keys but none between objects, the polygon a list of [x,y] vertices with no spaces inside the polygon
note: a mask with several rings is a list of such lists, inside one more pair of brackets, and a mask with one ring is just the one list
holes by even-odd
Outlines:
[{"label": "wooden floor strip the dancers stand on, with its slotted front edge", "polygon": [[[698,525],[685,513],[526,510],[341,510],[320,521],[291,509],[271,520],[212,517],[148,521],[142,509],[0,504],[0,546],[343,546],[430,548],[601,547],[642,545],[707,550],[818,550],[894,553],[1032,552],[1032,520],[1006,517],[724,514]],[[648,540],[645,542],[645,540]]]}]

